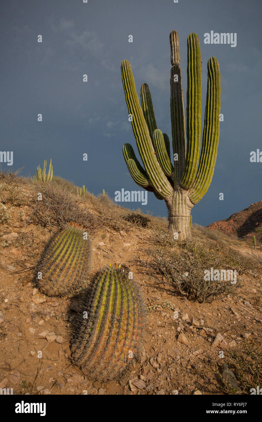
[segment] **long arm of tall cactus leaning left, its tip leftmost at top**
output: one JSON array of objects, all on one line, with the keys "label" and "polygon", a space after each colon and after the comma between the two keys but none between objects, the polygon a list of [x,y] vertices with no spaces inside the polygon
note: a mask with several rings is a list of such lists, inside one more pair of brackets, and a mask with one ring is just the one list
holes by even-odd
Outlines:
[{"label": "long arm of tall cactus leaning left, its tip leftmost at top", "polygon": [[132,69],[127,60],[123,60],[121,71],[128,111],[133,116],[132,128],[146,174],[154,190],[163,198],[169,198],[173,193],[173,189],[154,154],[153,144],[135,89]]}]

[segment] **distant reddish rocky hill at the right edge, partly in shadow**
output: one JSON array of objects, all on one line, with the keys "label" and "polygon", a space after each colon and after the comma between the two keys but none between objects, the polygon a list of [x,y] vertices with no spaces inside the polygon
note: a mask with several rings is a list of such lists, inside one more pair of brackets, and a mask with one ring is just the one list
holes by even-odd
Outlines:
[{"label": "distant reddish rocky hill at the right edge, partly in shadow", "polygon": [[246,240],[252,239],[255,235],[257,241],[262,243],[262,200],[207,227]]}]

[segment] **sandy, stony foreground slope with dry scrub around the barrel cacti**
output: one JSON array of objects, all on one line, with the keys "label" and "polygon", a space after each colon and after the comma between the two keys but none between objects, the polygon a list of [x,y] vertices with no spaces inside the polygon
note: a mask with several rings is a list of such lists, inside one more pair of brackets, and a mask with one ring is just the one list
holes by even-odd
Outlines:
[{"label": "sandy, stony foreground slope with dry scrub around the barrel cacti", "polygon": [[[47,297],[34,284],[46,242],[67,221],[81,222],[92,238],[87,281],[98,268],[121,264],[142,290],[144,348],[118,380],[90,381],[72,365],[79,297]],[[200,226],[192,227],[192,243],[174,243],[166,219],[117,207],[106,195],[79,197],[76,187],[56,178],[37,186],[5,173],[0,232],[0,388],[40,395],[212,395],[250,394],[262,384],[260,250]],[[203,281],[211,267],[235,270],[237,284]]]}]

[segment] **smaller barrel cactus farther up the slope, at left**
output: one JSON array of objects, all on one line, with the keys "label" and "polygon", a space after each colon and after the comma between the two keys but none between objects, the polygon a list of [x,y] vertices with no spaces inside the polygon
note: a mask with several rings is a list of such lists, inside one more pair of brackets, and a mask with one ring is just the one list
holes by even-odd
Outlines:
[{"label": "smaller barrel cactus farther up the slope, at left", "polygon": [[70,223],[52,236],[37,265],[37,284],[48,296],[75,291],[86,280],[90,263],[90,237]]}]

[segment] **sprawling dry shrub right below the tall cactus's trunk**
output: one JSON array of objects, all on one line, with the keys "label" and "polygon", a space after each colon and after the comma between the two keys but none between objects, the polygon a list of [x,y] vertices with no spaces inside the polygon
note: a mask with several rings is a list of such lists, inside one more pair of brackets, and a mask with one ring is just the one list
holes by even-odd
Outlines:
[{"label": "sprawling dry shrub right below the tall cactus's trunk", "polygon": [[211,302],[222,298],[240,287],[231,281],[205,281],[204,270],[236,270],[238,274],[262,267],[254,259],[236,252],[221,241],[203,240],[199,237],[188,241],[174,241],[166,230],[155,232],[154,247],[149,249],[151,268],[164,276],[177,294],[198,302]]}]

